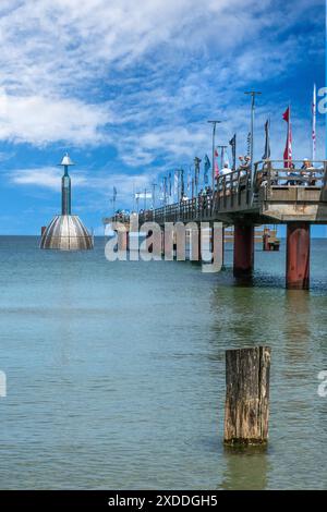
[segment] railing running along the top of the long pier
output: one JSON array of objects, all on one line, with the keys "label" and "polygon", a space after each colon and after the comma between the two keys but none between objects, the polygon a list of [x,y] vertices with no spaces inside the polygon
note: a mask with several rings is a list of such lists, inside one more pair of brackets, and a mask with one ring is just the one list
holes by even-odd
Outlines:
[{"label": "railing running along the top of the long pier", "polygon": [[[287,167],[289,166],[289,167]],[[310,187],[325,190],[327,185],[327,161],[315,161],[304,166],[303,160],[262,160],[255,162],[253,176],[250,168],[243,167],[220,174],[216,191],[202,191],[197,197],[182,199],[160,208],[141,210],[140,222],[191,222],[219,217],[219,212],[254,210],[258,208],[259,192],[276,188]],[[129,216],[117,214],[111,220],[129,222]]]}]

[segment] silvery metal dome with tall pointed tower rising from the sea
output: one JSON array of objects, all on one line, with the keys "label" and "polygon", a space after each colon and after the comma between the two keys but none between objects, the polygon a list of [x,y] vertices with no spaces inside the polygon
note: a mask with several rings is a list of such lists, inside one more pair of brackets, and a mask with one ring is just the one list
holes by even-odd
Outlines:
[{"label": "silvery metal dome with tall pointed tower rising from the sea", "polygon": [[64,168],[61,179],[61,215],[53,217],[41,235],[40,248],[59,251],[84,251],[94,246],[93,236],[88,233],[78,216],[71,214],[71,178],[69,166],[73,166],[69,155],[60,163]]}]

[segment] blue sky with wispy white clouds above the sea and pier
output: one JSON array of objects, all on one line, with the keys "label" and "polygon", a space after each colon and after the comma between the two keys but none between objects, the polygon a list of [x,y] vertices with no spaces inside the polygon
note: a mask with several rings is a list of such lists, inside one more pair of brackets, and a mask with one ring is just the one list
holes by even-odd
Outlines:
[{"label": "blue sky with wispy white clouds above the sea and pier", "polygon": [[[293,157],[311,156],[313,84],[325,86],[323,0],[1,0],[0,234],[39,234],[60,212],[58,166],[72,168],[72,210],[96,234],[133,190],[149,188],[237,133],[255,157],[270,117],[281,159],[291,103]],[[325,119],[317,117],[317,159]],[[315,229],[325,234],[326,228]]]}]

